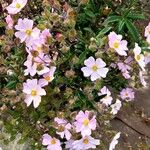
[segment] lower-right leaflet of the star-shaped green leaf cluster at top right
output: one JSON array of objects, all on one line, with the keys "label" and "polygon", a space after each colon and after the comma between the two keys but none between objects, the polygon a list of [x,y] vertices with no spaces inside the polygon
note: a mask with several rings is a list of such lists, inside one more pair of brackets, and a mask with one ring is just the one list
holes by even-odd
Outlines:
[{"label": "lower-right leaflet of the star-shaped green leaf cluster at top right", "polygon": [[140,34],[139,34],[138,30],[136,29],[136,27],[134,26],[134,24],[129,20],[126,20],[125,23],[129,30],[129,33],[133,37],[134,41],[138,42]]}]

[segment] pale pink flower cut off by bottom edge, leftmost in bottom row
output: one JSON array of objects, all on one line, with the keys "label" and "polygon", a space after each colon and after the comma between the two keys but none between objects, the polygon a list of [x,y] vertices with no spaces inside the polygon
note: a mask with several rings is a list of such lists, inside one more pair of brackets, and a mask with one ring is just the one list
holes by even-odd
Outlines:
[{"label": "pale pink flower cut off by bottom edge, leftmost in bottom row", "polygon": [[47,146],[47,150],[62,150],[60,141],[55,137],[52,138],[48,134],[43,135],[42,144]]}]

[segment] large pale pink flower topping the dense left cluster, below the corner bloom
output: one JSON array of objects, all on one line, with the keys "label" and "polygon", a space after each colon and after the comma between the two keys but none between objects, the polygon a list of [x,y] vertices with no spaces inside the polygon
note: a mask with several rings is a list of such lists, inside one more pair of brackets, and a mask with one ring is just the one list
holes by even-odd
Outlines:
[{"label": "large pale pink flower topping the dense left cluster, below the corner bloom", "polygon": [[25,41],[26,46],[30,47],[33,41],[37,39],[40,35],[40,30],[38,28],[33,28],[33,20],[24,18],[18,20],[18,24],[15,29],[18,30],[15,36],[21,40],[21,43]]}]

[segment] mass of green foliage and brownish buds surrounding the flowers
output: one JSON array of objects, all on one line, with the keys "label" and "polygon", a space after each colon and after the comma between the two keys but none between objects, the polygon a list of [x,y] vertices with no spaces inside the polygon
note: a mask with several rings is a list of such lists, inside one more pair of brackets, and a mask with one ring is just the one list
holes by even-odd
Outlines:
[{"label": "mass of green foliage and brownish buds surrounding the flowers", "polygon": [[[65,7],[69,10],[68,16],[62,19]],[[112,0],[69,0],[68,3],[61,0],[54,0],[54,3],[51,0],[29,1],[22,12],[14,15],[15,23],[19,17],[31,18],[39,29],[50,29],[53,35],[49,39],[50,56],[55,57],[55,53],[58,53],[57,61],[53,62],[57,67],[55,79],[46,87],[47,95],[42,97],[40,106],[34,109],[32,106],[26,107],[22,94],[22,84],[26,79],[23,72],[27,57],[25,46],[15,38],[12,29],[5,27],[6,14],[3,10],[0,16],[0,103],[1,118],[6,131],[11,133],[11,140],[21,133],[19,143],[29,140],[31,149],[40,149],[41,135],[45,132],[55,135],[54,117],[63,116],[73,121],[72,116],[79,110],[95,110],[103,114],[99,116],[100,121],[111,120],[112,116],[101,108],[103,106],[97,105],[103,98],[97,93],[107,85],[113,94],[118,94],[129,82],[119,69],[113,67],[110,67],[107,78],[91,82],[83,76],[81,67],[90,56],[100,56],[108,66],[112,60],[117,61],[116,55],[107,52],[107,35],[110,31],[116,31],[128,39],[129,47],[139,42],[147,49],[135,24],[137,20],[145,19],[141,12],[136,0],[121,3]],[[62,38],[57,39],[57,33],[61,33]],[[132,66],[135,77],[139,68],[135,64]],[[139,87],[137,80],[134,82]],[[105,131],[107,127],[102,128],[104,131],[101,132],[108,136],[106,141],[109,141],[112,135]],[[111,130],[110,127],[108,130]]]}]

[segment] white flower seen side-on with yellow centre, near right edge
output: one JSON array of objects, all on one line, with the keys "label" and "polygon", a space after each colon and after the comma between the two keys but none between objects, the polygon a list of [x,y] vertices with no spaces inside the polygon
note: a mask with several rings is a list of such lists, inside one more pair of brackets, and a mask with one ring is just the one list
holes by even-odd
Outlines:
[{"label": "white flower seen side-on with yellow centre, near right edge", "polygon": [[135,48],[133,49],[134,52],[134,58],[139,64],[139,66],[142,68],[143,71],[145,71],[145,58],[144,55],[141,54],[141,48],[137,43],[135,43]]}]

